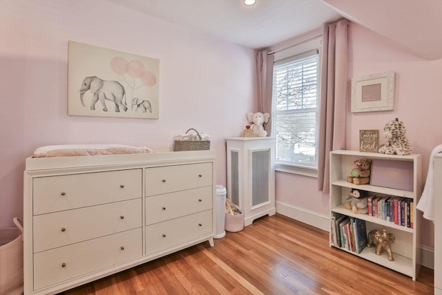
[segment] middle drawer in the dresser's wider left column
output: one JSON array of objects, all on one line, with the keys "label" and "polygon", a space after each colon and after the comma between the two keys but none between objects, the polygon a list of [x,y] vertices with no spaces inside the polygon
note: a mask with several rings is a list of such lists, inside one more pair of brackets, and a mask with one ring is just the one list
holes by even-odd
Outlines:
[{"label": "middle drawer in the dresser's wider left column", "polygon": [[142,227],[142,199],[34,216],[34,253]]}]

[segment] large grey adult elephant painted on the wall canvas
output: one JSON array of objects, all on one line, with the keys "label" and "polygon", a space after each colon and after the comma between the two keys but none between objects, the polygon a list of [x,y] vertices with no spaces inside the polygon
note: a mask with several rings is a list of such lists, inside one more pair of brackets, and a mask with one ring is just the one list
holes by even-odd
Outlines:
[{"label": "large grey adult elephant painted on the wall canvas", "polygon": [[123,104],[123,97],[126,99],[126,93],[122,84],[117,81],[106,81],[99,77],[86,77],[81,83],[79,90],[81,104],[84,105],[83,96],[86,91],[90,90],[93,94],[92,102],[90,102],[90,109],[95,110],[95,104],[100,101],[103,105],[103,111],[107,112],[105,99],[115,103],[115,112],[119,112],[119,108],[127,111],[126,102]]}]

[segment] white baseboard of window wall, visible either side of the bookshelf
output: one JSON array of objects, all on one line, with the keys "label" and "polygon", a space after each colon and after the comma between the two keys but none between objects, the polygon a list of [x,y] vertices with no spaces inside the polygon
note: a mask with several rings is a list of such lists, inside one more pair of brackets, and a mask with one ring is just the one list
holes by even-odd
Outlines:
[{"label": "white baseboard of window wall, visible either side of the bookshelf", "polygon": [[[276,213],[304,222],[312,227],[317,227],[324,231],[330,231],[330,218],[327,215],[309,211],[284,202],[276,202]],[[423,267],[434,269],[433,248],[421,246],[421,265]]]}]

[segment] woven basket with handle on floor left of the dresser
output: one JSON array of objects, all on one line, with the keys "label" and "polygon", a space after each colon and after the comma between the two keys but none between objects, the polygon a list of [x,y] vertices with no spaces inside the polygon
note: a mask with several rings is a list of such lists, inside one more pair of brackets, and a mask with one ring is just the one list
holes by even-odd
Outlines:
[{"label": "woven basket with handle on floor left of the dresser", "polygon": [[0,229],[0,295],[23,293],[23,226]]}]

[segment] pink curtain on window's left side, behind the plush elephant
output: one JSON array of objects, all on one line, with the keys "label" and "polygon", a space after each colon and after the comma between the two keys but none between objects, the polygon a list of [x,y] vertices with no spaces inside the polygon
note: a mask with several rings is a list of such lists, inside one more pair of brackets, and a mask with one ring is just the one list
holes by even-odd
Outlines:
[{"label": "pink curtain on window's left side, behind the plush elephant", "polygon": [[[271,114],[271,91],[273,83],[273,54],[267,55],[267,50],[256,55],[256,76],[258,77],[258,112]],[[264,124],[267,135],[271,135],[271,116]]]}]

